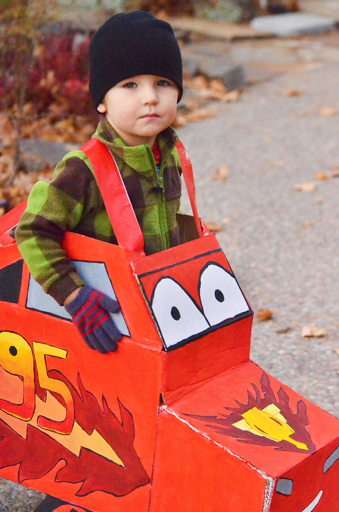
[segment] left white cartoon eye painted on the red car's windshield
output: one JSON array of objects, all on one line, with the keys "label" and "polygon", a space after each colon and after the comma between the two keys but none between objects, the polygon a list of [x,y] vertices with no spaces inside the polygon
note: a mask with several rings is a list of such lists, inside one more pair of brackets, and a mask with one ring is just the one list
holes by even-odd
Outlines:
[{"label": "left white cartoon eye painted on the red car's windshield", "polygon": [[188,293],[171,278],[157,283],[151,307],[167,348],[210,327]]}]

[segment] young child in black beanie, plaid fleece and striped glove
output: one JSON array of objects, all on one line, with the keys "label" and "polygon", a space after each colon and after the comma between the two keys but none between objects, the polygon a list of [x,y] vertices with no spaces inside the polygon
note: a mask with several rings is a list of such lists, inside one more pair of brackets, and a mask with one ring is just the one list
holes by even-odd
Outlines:
[{"label": "young child in black beanie, plaid fleece and striped glove", "polygon": [[[89,91],[104,115],[94,135],[114,155],[145,253],[178,245],[180,163],[170,124],[183,73],[172,28],[143,11],[117,14],[94,34],[89,63]],[[117,312],[119,304],[76,273],[60,245],[65,231],[117,243],[92,165],[81,151],[63,158],[50,183],[34,185],[15,238],[34,279],[65,306],[86,344],[114,351],[121,333],[108,312]]]}]

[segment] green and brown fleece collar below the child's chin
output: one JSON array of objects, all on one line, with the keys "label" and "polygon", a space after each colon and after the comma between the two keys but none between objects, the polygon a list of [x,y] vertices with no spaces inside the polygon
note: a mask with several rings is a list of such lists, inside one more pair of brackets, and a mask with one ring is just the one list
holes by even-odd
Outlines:
[{"label": "green and brown fleece collar below the child's chin", "polygon": [[[149,172],[152,174],[154,157],[151,147],[148,144],[127,146],[107,119],[103,119],[99,122],[94,136],[101,142],[104,142],[109,150],[129,165],[129,167],[132,167],[137,172]],[[169,126],[166,130],[157,135],[156,141],[159,145],[161,162],[163,163],[172,152],[178,141],[178,136]]]}]

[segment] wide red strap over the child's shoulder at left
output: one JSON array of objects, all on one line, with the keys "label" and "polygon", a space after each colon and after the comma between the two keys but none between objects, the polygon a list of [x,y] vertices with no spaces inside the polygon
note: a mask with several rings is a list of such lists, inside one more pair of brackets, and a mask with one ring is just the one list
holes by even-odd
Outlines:
[{"label": "wide red strap over the child's shoulder at left", "polygon": [[135,217],[116,161],[108,147],[93,137],[81,147],[81,151],[87,155],[92,164],[118,244],[145,255],[143,233],[137,217]]}]

